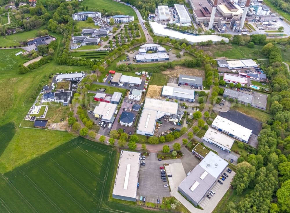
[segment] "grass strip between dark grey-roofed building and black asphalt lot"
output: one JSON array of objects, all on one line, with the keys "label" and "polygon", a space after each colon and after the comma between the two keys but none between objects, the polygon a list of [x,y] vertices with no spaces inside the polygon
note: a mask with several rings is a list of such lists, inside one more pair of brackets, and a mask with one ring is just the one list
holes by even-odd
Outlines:
[{"label": "grass strip between dark grey-roofed building and black asphalt lot", "polygon": [[265,123],[269,118],[272,117],[271,114],[265,112],[264,110],[256,109],[254,107],[248,107],[245,106],[244,104],[235,104],[235,106],[231,107],[231,109],[237,110],[241,113],[244,113],[246,115],[249,115],[252,118],[255,118],[263,123]]}]

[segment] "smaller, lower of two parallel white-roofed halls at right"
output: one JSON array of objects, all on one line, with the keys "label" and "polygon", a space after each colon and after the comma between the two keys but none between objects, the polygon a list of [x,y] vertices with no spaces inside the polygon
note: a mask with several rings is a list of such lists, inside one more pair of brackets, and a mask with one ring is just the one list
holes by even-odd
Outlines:
[{"label": "smaller, lower of two parallel white-roofed halls at right", "polygon": [[209,138],[210,140],[217,142],[218,144],[223,145],[224,147],[227,147],[228,149],[231,149],[235,141],[235,139],[211,127],[206,131],[206,133],[204,134],[204,137]]}]

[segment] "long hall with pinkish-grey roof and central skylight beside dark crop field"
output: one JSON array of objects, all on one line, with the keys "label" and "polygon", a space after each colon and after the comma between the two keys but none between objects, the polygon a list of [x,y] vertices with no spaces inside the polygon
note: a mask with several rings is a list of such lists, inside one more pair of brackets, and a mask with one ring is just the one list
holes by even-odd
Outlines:
[{"label": "long hall with pinkish-grey roof and central skylight beside dark crop field", "polygon": [[140,152],[121,150],[113,198],[136,201],[140,158]]}]

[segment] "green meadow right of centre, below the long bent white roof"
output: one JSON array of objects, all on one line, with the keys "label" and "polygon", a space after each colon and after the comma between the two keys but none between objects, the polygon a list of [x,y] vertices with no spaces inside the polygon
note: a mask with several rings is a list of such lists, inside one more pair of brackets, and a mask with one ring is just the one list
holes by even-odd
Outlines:
[{"label": "green meadow right of centre, below the long bent white roof", "polygon": [[[213,57],[227,57],[232,59],[238,58],[266,58],[264,55],[260,53],[262,49],[262,45],[256,45],[254,48],[249,48],[247,46],[240,46],[237,44],[226,45],[224,48],[216,49],[213,52]],[[259,54],[254,54],[254,50],[258,50]]]}]

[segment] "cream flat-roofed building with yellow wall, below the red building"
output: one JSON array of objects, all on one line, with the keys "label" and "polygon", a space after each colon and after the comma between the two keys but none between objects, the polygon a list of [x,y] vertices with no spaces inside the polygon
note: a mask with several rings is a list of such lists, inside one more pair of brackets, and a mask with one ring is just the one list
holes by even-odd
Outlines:
[{"label": "cream flat-roofed building with yellow wall, below the red building", "polygon": [[117,107],[117,104],[100,102],[93,111],[95,118],[101,118],[102,121],[111,122]]}]

